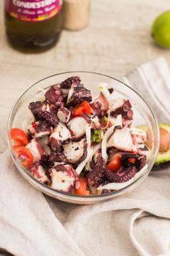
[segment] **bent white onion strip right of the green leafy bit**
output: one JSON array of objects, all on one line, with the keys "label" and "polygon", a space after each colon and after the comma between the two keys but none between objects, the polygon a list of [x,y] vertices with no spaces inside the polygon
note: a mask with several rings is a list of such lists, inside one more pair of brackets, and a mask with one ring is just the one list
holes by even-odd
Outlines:
[{"label": "bent white onion strip right of the green leafy bit", "polygon": [[116,126],[122,126],[122,115],[118,115],[117,118],[116,118],[116,121],[115,121],[115,124],[113,126],[111,126],[107,131],[106,133],[104,134],[104,137],[103,137],[103,141],[101,143],[101,156],[103,157],[103,159],[105,161],[107,161],[108,159],[108,155],[106,153],[106,149],[107,149],[107,141],[109,139],[109,137],[111,136],[111,134],[114,132],[114,128]]}]

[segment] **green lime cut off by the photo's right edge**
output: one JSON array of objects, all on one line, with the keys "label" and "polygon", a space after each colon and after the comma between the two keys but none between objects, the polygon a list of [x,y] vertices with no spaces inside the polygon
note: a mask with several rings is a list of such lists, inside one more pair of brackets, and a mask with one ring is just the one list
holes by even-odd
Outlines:
[{"label": "green lime cut off by the photo's right edge", "polygon": [[170,11],[163,12],[153,22],[152,36],[156,44],[170,48]]}]

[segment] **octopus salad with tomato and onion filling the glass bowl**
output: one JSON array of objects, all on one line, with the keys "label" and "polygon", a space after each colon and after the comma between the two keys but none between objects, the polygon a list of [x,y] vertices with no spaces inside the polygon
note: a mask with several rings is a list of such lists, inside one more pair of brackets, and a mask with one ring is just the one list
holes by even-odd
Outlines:
[{"label": "octopus salad with tomato and onion filling the glass bowl", "polygon": [[98,88],[94,98],[79,77],[67,78],[30,102],[22,129],[10,131],[15,154],[40,183],[90,196],[122,189],[145,172],[147,136],[132,124],[132,102],[106,83]]}]

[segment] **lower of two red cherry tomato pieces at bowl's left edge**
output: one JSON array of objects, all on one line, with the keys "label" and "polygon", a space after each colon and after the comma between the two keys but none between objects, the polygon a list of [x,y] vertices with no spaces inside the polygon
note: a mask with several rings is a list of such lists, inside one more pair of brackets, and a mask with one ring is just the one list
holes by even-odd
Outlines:
[{"label": "lower of two red cherry tomato pieces at bowl's left edge", "polygon": [[25,146],[13,146],[15,154],[17,154],[18,159],[24,165],[25,168],[28,168],[30,165],[33,165],[33,154]]}]

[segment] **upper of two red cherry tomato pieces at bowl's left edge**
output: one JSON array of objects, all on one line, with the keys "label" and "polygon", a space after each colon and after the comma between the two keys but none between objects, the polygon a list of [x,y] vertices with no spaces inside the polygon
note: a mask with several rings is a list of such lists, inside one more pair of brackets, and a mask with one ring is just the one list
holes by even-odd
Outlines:
[{"label": "upper of two red cherry tomato pieces at bowl's left edge", "polygon": [[27,144],[27,134],[25,133],[25,131],[22,131],[19,128],[12,128],[10,131],[10,136],[17,145]]}]

